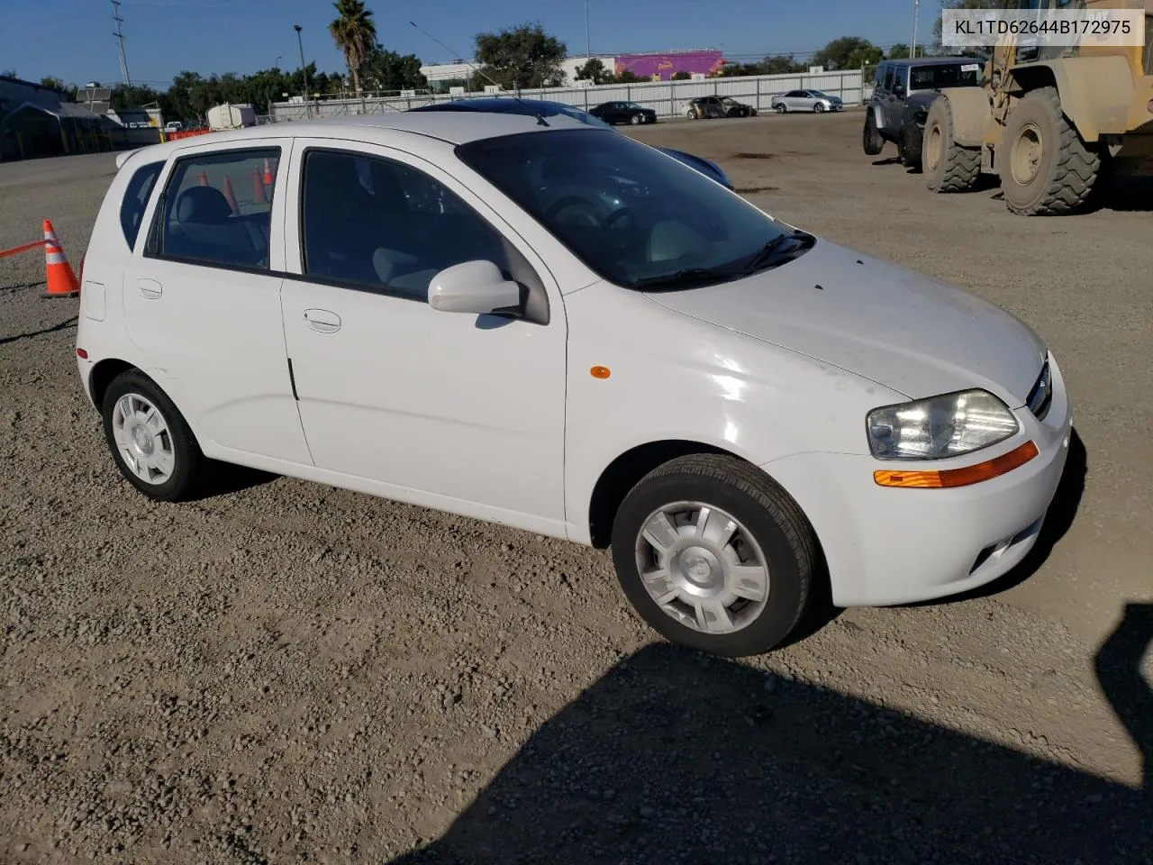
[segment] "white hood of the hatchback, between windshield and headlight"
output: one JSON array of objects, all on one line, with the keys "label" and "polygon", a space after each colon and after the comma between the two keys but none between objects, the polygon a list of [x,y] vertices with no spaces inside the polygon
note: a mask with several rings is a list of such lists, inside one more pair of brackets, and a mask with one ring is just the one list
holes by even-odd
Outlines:
[{"label": "white hood of the hatchback, between windshield and headlight", "polygon": [[649,296],[911,399],[985,388],[1016,408],[1047,354],[1031,328],[992,303],[826,240],[746,279]]}]

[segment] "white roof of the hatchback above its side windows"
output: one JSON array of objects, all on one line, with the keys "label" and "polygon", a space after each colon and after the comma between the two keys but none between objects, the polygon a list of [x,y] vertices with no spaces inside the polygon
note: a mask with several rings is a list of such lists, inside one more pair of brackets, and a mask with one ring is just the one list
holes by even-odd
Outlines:
[{"label": "white roof of the hatchback above its side windows", "polygon": [[[477,100],[489,101],[489,100]],[[137,155],[149,159],[166,159],[174,150],[212,143],[231,143],[250,140],[317,137],[363,142],[366,144],[395,143],[397,134],[434,138],[449,144],[466,144],[483,138],[496,138],[518,133],[545,133],[560,129],[596,130],[565,114],[550,114],[548,126],[542,126],[536,116],[504,111],[404,111],[382,114],[357,114],[342,118],[318,118],[280,123],[249,126],[243,129],[226,129],[206,133],[191,138],[178,138],[164,144],[149,144],[129,151],[116,165],[135,161]]]}]

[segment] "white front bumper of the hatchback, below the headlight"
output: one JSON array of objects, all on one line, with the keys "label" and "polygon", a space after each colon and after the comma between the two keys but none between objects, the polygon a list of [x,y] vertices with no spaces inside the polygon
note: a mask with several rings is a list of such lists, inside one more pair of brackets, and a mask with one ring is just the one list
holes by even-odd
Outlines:
[{"label": "white front bumper of the hatchback, below the headlight", "polygon": [[955,489],[892,489],[876,468],[913,468],[872,456],[801,453],[762,466],[808,516],[824,551],[838,607],[929,601],[984,586],[1020,563],[1037,542],[1069,456],[1072,429],[1064,379],[1049,359],[1053,400],[1043,421],[1016,411],[1022,431],[967,459],[918,469],[974,465],[1027,441],[1025,465]]}]

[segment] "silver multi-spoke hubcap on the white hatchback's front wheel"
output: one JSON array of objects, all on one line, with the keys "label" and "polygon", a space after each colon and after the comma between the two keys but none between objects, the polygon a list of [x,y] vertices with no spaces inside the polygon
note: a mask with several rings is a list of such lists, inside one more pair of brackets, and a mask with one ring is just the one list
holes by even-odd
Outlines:
[{"label": "silver multi-spoke hubcap on the white hatchback's front wheel", "polygon": [[752,534],[700,502],[649,514],[636,539],[636,566],[665,615],[695,631],[740,631],[768,602],[769,570]]}]

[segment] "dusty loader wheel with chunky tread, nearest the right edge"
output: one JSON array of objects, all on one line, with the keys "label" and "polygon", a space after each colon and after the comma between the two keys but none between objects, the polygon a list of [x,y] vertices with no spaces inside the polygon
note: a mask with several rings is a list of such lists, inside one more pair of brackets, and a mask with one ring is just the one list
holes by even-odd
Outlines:
[{"label": "dusty loader wheel with chunky tread, nearest the right edge", "polygon": [[1090,197],[1101,157],[1082,141],[1049,86],[1026,93],[1009,112],[997,163],[1009,210],[1057,216]]}]

